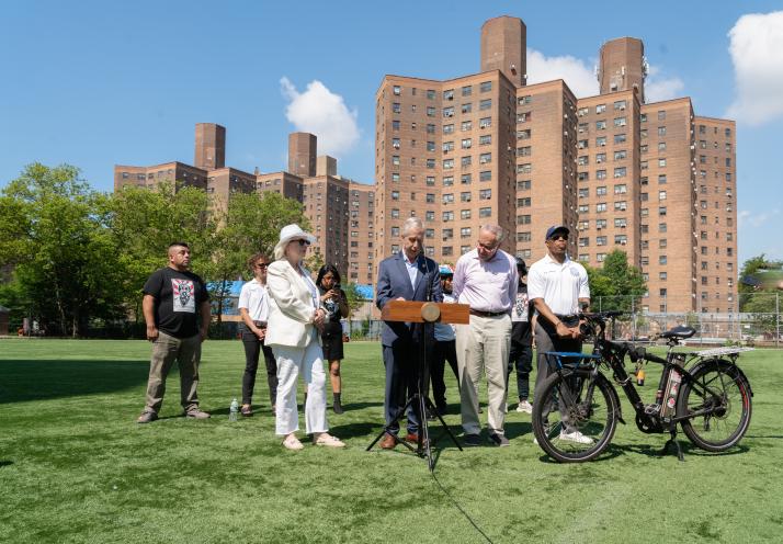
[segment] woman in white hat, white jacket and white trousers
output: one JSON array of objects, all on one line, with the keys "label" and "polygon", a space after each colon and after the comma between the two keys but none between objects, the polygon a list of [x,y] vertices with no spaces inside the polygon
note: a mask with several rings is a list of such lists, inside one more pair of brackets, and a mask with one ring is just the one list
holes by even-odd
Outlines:
[{"label": "woman in white hat, white jacket and white trousers", "polygon": [[318,288],[309,271],[303,267],[307,247],[315,241],[315,236],[298,225],[286,225],[274,248],[275,261],[266,272],[273,304],[270,305],[265,340],[277,360],[275,432],[284,437],[283,445],[288,450],[304,447],[296,438],[299,429],[296,378],[299,373],[304,374],[307,386],[305,431],[313,434],[316,445],[345,445],[327,432],[326,373],[318,333],[326,311],[320,307]]}]

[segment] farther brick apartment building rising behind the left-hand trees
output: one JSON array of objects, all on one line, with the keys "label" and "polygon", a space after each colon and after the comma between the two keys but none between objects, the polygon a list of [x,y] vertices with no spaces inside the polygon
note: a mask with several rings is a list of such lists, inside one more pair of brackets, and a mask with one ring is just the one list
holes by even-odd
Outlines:
[{"label": "farther brick apartment building rising behind the left-hand trees", "polygon": [[303,204],[318,238],[313,251],[320,253],[324,262],[334,264],[345,281],[370,283],[374,188],[338,175],[337,160],[318,157],[316,150],[315,135],[293,133],[288,138],[290,171],[249,173],[225,166],[226,129],[198,123],[195,166],[177,161],[152,167],[116,165],[114,189],[128,184],[154,189],[163,181],[177,189],[196,186],[213,195],[213,209],[225,208],[231,194],[238,192],[281,193]]}]

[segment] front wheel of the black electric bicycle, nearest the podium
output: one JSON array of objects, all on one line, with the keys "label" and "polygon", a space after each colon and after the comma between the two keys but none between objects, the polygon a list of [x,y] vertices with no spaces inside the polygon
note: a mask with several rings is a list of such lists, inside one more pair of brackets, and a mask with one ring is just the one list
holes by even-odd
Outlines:
[{"label": "front wheel of the black electric bicycle, nearest the podium", "polygon": [[536,390],[533,432],[542,450],[560,463],[591,461],[614,435],[616,396],[602,374],[567,372],[548,376]]}]

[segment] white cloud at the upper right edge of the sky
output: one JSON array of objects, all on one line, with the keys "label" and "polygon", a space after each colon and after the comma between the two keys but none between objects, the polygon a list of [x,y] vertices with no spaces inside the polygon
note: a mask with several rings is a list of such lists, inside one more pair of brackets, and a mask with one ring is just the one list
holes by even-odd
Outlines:
[{"label": "white cloud at the upper right edge of the sky", "polygon": [[783,11],[742,15],[728,35],[736,95],[727,116],[760,125],[783,115]]}]

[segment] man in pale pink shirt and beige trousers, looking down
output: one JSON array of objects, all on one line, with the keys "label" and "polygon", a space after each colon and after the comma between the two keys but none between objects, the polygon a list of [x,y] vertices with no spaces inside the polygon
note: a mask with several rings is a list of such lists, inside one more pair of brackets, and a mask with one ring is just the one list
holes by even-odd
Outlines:
[{"label": "man in pale pink shirt and beige trousers, looking down", "polygon": [[480,445],[478,381],[487,375],[487,427],[489,441],[508,446],[506,421],[506,367],[511,347],[511,308],[517,302],[517,261],[500,249],[503,229],[484,225],[476,249],[459,258],[454,271],[453,293],[470,306],[470,322],[456,327],[463,442]]}]

